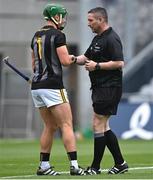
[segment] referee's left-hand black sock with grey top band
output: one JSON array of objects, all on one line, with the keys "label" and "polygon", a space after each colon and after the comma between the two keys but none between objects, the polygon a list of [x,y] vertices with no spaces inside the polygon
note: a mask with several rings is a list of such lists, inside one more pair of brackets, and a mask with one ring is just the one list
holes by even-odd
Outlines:
[{"label": "referee's left-hand black sock with grey top band", "polygon": [[103,133],[95,133],[94,134],[94,159],[91,164],[91,167],[95,169],[100,168],[100,163],[103,158],[105,150],[105,136]]}]

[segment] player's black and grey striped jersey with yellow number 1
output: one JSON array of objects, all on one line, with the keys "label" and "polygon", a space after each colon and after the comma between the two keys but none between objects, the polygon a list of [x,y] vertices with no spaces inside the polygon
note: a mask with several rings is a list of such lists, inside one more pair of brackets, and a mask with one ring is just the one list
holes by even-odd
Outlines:
[{"label": "player's black and grey striped jersey with yellow number 1", "polygon": [[62,89],[62,66],[56,48],[66,45],[65,34],[52,26],[44,26],[32,38],[34,76],[31,89]]}]

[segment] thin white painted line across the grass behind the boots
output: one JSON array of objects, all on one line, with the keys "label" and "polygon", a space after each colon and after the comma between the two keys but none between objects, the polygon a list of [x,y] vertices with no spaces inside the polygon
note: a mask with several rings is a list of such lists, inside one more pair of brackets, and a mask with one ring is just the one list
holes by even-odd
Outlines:
[{"label": "thin white painted line across the grass behind the boots", "polygon": [[[149,169],[153,169],[153,166],[149,166],[149,167],[133,167],[133,168],[129,168],[129,170],[142,170],[142,169],[145,169],[145,170],[149,170]],[[103,169],[102,172],[107,172],[108,169]],[[61,174],[69,174],[69,171],[63,171],[63,172],[60,172]],[[38,177],[37,175],[22,175],[22,176],[5,176],[5,177],[0,177],[0,179],[14,179],[14,178],[30,178],[30,177]]]}]

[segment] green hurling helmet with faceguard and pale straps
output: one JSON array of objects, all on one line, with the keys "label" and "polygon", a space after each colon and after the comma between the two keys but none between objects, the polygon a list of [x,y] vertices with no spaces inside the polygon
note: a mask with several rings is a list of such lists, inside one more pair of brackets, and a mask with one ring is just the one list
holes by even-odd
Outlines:
[{"label": "green hurling helmet with faceguard and pale straps", "polygon": [[[60,16],[59,22],[55,20],[54,18],[55,15]],[[59,4],[47,4],[43,11],[43,16],[46,20],[52,20],[57,25],[57,27],[60,25],[60,28],[58,27],[58,29],[63,29],[65,27],[65,24],[63,27],[61,23],[62,23],[62,19],[64,19],[66,15],[67,15],[67,11],[65,7]]]}]

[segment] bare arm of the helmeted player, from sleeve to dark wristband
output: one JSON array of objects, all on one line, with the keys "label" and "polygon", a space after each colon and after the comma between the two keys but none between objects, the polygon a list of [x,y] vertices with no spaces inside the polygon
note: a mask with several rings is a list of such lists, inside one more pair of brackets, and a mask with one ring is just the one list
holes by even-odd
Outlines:
[{"label": "bare arm of the helmeted player, from sleeve to dark wristband", "polygon": [[73,63],[73,55],[69,55],[66,45],[56,48],[56,52],[63,66],[69,66]]}]

